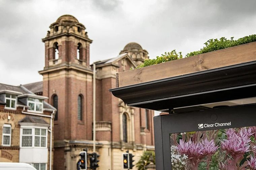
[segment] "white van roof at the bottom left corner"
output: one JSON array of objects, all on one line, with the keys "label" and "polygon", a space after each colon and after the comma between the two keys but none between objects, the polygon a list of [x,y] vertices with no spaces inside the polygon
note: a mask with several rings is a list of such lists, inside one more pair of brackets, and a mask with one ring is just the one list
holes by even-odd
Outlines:
[{"label": "white van roof at the bottom left corner", "polygon": [[26,163],[0,162],[1,170],[36,170],[32,165]]}]

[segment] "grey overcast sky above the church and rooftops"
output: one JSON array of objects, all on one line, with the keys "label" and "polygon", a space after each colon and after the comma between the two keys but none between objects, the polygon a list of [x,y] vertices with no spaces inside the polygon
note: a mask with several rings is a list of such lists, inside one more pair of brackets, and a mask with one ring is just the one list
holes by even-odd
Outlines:
[{"label": "grey overcast sky above the church and rooftops", "polygon": [[129,42],[155,58],[185,56],[210,38],[256,33],[255,0],[0,0],[0,83],[41,81],[49,26],[71,14],[84,24],[90,63],[116,57]]}]

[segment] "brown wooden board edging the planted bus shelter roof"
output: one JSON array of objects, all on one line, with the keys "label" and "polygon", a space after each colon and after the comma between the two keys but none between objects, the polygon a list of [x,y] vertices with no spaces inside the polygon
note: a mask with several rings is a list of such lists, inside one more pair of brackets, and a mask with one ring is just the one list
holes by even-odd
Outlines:
[{"label": "brown wooden board edging the planted bus shelter roof", "polygon": [[117,74],[117,87],[256,61],[256,42]]}]

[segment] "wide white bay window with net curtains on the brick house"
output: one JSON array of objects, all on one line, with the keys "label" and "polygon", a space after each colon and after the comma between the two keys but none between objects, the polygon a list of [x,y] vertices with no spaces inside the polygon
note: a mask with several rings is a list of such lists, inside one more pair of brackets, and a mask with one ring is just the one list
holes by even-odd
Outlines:
[{"label": "wide white bay window with net curtains on the brick house", "polygon": [[47,147],[47,129],[21,129],[21,147]]}]

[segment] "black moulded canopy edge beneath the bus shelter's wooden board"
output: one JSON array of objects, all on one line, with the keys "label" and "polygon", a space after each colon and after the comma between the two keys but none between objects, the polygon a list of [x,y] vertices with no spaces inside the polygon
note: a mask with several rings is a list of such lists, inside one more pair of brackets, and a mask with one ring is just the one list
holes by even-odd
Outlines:
[{"label": "black moulded canopy edge beneath the bus shelter's wooden board", "polygon": [[[163,73],[164,74],[164,73]],[[256,61],[110,89],[129,106],[159,111],[256,96]],[[191,106],[191,107],[188,107]]]}]

